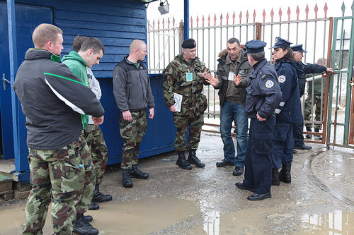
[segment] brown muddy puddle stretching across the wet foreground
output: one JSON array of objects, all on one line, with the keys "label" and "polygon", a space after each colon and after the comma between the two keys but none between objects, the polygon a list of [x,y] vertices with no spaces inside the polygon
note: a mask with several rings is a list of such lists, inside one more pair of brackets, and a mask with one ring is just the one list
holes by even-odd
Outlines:
[{"label": "brown muddy puddle stretching across the wet foreground", "polygon": [[[150,198],[101,203],[89,211],[100,235],[140,234],[354,234],[354,213],[294,215],[279,208],[218,212],[205,203],[178,198]],[[21,234],[24,207],[0,210],[0,234]],[[50,217],[44,234],[51,234]]]}]

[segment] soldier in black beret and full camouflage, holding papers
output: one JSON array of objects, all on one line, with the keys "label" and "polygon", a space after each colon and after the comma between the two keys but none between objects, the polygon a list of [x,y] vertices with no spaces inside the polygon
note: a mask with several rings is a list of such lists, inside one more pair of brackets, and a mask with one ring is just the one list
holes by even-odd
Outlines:
[{"label": "soldier in black beret and full camouflage, holding papers", "polygon": [[[193,39],[182,43],[183,54],[176,56],[164,70],[164,100],[166,107],[173,112],[173,122],[177,128],[175,148],[178,152],[176,164],[182,169],[192,169],[190,163],[196,167],[204,167],[205,164],[198,159],[195,151],[200,142],[200,133],[204,124],[204,112],[207,109],[207,97],[202,95],[204,85],[210,85],[205,81],[209,73],[205,64],[196,55],[196,43]],[[182,95],[181,112],[177,112],[174,95]],[[185,135],[188,135],[186,145]],[[189,151],[188,161],[184,152]]]}]

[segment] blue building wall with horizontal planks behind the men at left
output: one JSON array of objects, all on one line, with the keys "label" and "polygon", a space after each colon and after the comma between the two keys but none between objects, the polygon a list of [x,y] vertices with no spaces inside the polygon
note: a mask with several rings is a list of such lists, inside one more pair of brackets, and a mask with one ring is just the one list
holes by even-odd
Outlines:
[{"label": "blue building wall with horizontal planks behind the men at left", "polygon": [[[0,4],[6,4],[6,1],[0,0]],[[101,103],[105,108],[105,121],[101,128],[109,150],[108,164],[120,162],[122,154],[122,138],[120,137],[118,121],[120,111],[113,96],[112,73],[115,65],[129,54],[129,46],[132,40],[139,39],[147,42],[146,8],[144,4],[134,1],[115,0],[19,0],[16,1],[16,11],[17,8],[20,8],[18,4],[24,4],[24,7],[28,6],[29,8],[42,6],[50,9],[50,21],[64,32],[62,56],[72,50],[72,41],[76,35],[98,37],[105,45],[103,59],[99,65],[93,66],[92,70],[100,81],[103,92]],[[35,26],[40,23],[51,23],[47,22],[47,19],[42,19],[42,13],[35,14],[40,21],[35,21],[34,25],[29,28],[24,22],[25,19],[17,22],[19,29],[16,37],[27,37],[25,40],[17,41],[19,45],[18,65],[23,61],[25,50],[33,47],[30,37]],[[27,17],[26,13],[22,15]],[[27,19],[27,21],[31,20]],[[0,28],[0,34],[3,32],[4,29]],[[0,46],[2,45],[0,44]],[[155,117],[153,120],[148,119],[147,134],[142,140],[139,157],[147,157],[174,150],[173,142],[176,128],[173,125],[173,115],[164,104],[162,81],[161,76],[151,78],[152,92],[156,104]],[[21,127],[21,130],[18,131],[21,138],[20,144],[21,147],[27,148],[25,121],[22,112],[18,113],[18,119],[20,120],[18,126]],[[16,164],[19,161],[25,161],[24,164],[28,169],[26,157],[16,159]],[[16,167],[16,171],[25,170],[25,168],[18,170]],[[28,171],[25,176],[21,176],[23,181],[28,181],[27,174]]]}]

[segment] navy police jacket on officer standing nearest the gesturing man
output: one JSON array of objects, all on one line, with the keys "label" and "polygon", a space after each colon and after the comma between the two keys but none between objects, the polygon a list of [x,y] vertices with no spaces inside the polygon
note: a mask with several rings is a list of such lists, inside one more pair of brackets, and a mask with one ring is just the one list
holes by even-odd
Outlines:
[{"label": "navy police jacket on officer standing nearest the gesturing man", "polygon": [[257,112],[263,119],[273,116],[275,108],[282,101],[282,92],[274,67],[263,59],[258,62],[249,78],[249,85],[246,88],[246,116],[256,118]]}]

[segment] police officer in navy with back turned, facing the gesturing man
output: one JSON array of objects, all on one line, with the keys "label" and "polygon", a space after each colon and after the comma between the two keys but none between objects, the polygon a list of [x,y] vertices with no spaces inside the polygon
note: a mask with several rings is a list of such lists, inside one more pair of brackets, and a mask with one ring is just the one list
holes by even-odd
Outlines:
[{"label": "police officer in navy with back turned, facing the gesturing man", "polygon": [[[270,198],[272,180],[272,138],[275,127],[274,111],[282,101],[277,73],[265,59],[266,43],[260,40],[246,42],[247,57],[254,71],[246,88],[246,116],[251,119],[246,149],[244,181],[235,185],[254,192],[248,200]],[[235,85],[241,78],[234,79]]]}]

